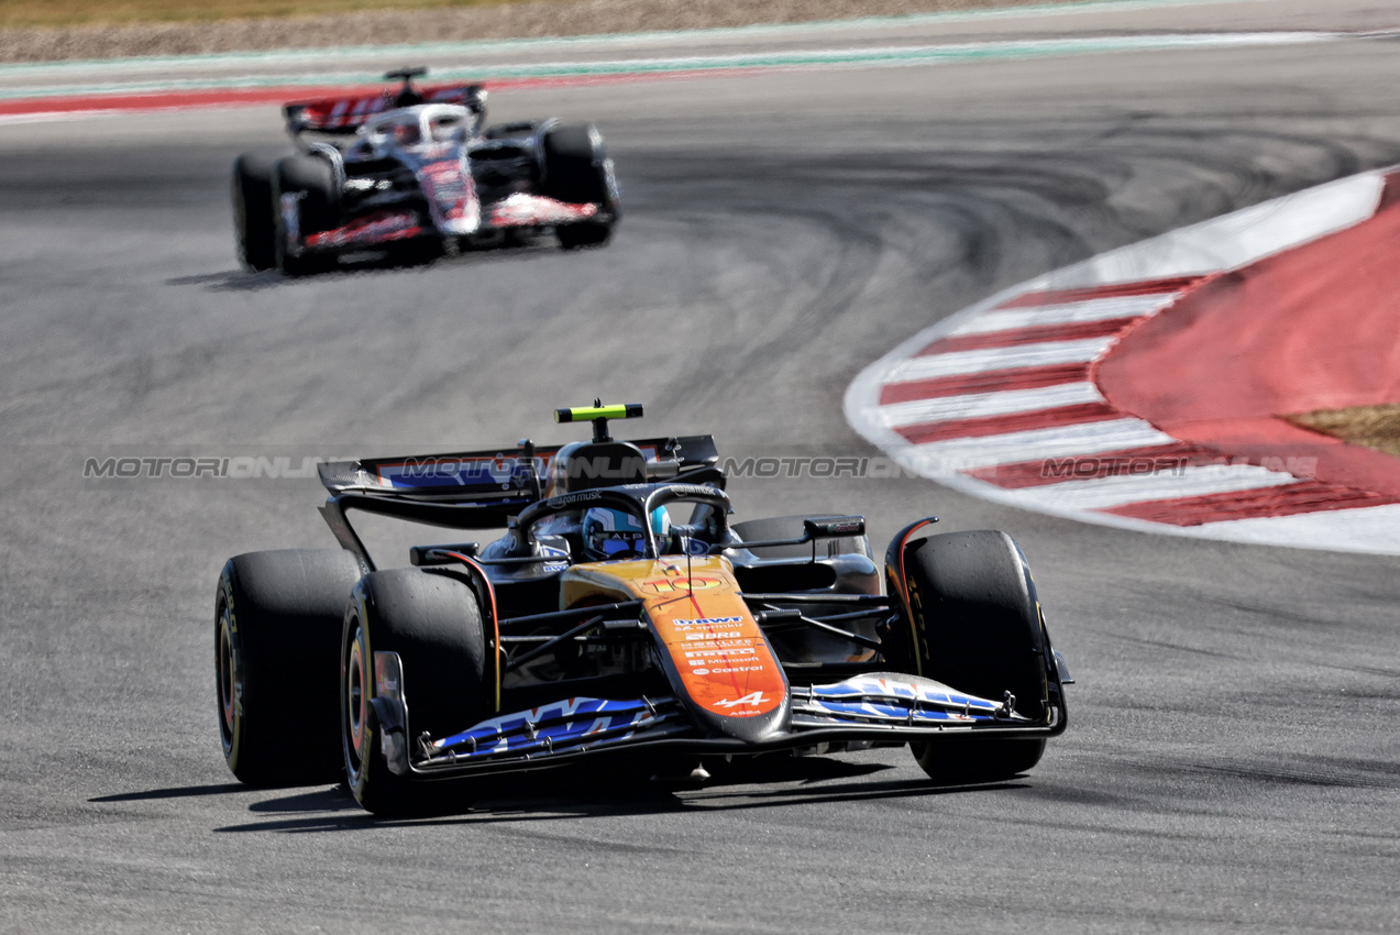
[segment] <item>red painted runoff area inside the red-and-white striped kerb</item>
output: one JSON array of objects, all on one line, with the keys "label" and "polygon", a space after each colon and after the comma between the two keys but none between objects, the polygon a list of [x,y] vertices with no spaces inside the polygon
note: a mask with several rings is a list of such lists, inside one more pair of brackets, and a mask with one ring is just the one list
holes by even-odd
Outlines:
[{"label": "red painted runoff area inside the red-and-white striped kerb", "polygon": [[[1390,176],[1371,220],[1210,277],[1131,328],[1095,367],[1099,389],[1187,444],[1253,463],[1316,456],[1317,484],[1351,490],[1338,507],[1362,505],[1352,494],[1400,501],[1400,459],[1282,419],[1400,400],[1396,244],[1400,176]],[[1261,515],[1295,512],[1284,494]]]}]

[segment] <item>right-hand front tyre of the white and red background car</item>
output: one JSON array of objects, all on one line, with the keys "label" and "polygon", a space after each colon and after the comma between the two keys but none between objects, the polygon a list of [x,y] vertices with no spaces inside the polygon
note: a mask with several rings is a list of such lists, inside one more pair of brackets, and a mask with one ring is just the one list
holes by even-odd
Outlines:
[{"label": "right-hand front tyre of the white and red background car", "polygon": [[570,204],[598,204],[592,220],[554,228],[564,249],[606,244],[617,223],[617,181],[603,139],[591,123],[566,123],[545,134],[545,195]]}]

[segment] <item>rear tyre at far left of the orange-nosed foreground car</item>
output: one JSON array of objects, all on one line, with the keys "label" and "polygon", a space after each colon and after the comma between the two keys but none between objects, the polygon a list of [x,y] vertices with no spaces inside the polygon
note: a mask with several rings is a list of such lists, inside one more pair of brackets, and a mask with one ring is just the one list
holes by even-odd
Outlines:
[{"label": "rear tyre at far left of the orange-nosed foreground car", "polygon": [[230,558],[214,600],[214,677],[224,760],[249,785],[340,775],[336,645],[360,577],[347,551]]}]

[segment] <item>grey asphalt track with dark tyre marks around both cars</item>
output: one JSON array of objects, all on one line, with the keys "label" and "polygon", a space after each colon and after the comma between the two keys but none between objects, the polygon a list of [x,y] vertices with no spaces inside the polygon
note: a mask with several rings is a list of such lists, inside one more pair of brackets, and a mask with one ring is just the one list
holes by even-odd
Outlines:
[{"label": "grey asphalt track with dark tyre marks around both cars", "polygon": [[1028,777],[935,789],[882,750],[700,789],[522,785],[405,823],[333,787],[234,784],[214,582],[239,551],[330,544],[319,487],[84,480],[85,458],[563,440],[550,409],[595,395],[739,455],[874,455],[841,393],[928,322],[1400,162],[1400,59],[1354,41],[655,81],[494,116],[545,113],[603,127],[612,246],[305,281],[232,256],[228,165],[277,139],[272,109],[4,130],[0,928],[1400,931],[1393,557],[1085,526],[918,479],[732,491],[750,516],[865,512],[878,543],[928,512],[1011,532],[1079,679]]}]

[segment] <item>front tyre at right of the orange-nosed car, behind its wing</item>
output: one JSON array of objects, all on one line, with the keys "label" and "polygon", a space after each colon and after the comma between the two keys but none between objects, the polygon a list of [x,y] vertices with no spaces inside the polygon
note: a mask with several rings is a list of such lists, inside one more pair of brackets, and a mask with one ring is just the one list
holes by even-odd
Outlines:
[{"label": "front tyre at right of the orange-nosed car, behind its wing", "polygon": [[[1043,718],[1044,635],[1035,584],[1004,532],[930,536],[906,564],[913,613],[923,617],[924,675],[977,697],[1011,691],[1019,714]],[[939,782],[987,782],[1030,770],[1046,742],[973,738],[914,745]]]}]

